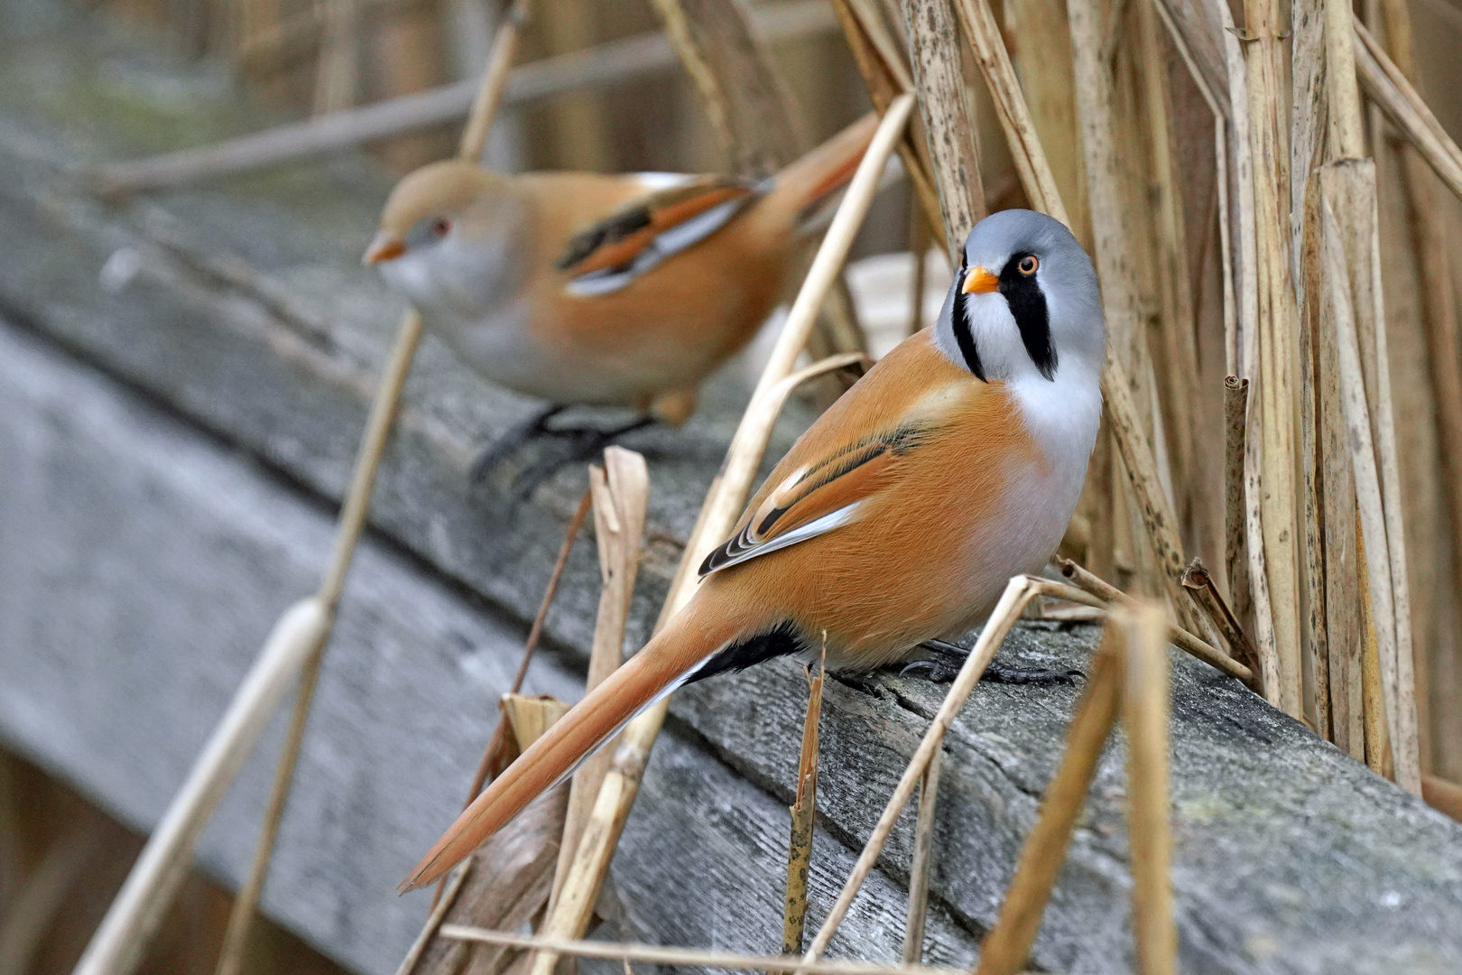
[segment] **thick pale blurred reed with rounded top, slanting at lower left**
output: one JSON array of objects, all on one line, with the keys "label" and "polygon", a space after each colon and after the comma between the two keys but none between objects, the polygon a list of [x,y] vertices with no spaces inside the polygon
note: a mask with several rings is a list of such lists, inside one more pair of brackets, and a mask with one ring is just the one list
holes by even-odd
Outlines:
[{"label": "thick pale blurred reed with rounded top, slanting at lower left", "polygon": [[323,643],[329,611],[319,596],[295,602],[265,642],[228,710],[213,728],[187,779],[173,797],[101,927],[76,963],[76,975],[127,975],[137,962],[178,884],[187,876],[193,843],[218,808],[244,759],[285,691]]}]

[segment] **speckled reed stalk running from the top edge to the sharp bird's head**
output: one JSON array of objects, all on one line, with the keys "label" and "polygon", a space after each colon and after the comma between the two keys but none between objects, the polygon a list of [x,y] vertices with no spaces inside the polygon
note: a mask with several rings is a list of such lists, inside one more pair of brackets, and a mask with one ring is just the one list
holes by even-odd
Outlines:
[{"label": "speckled reed stalk running from the top edge to the sharp bird's head", "polygon": [[939,190],[944,249],[959,263],[965,238],[985,215],[974,113],[965,91],[959,32],[950,0],[904,0],[914,88]]}]

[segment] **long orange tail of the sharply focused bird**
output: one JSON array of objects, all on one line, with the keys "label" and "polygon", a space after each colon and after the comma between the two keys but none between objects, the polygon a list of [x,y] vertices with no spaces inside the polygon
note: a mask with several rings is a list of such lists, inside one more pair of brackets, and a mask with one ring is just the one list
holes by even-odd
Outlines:
[{"label": "long orange tail of the sharply focused bird", "polygon": [[[705,591],[697,595],[705,595]],[[399,893],[431,883],[507,824],[539,792],[569,773],[640,707],[744,633],[725,601],[694,599],[623,667],[569,709],[528,751],[493,781],[442,835]],[[709,617],[709,618],[708,618]]]}]

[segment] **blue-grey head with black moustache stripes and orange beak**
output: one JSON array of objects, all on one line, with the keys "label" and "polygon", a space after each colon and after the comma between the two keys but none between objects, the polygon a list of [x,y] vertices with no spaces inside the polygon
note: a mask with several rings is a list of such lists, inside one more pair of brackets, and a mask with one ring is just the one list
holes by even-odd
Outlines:
[{"label": "blue-grey head with black moustache stripes and orange beak", "polygon": [[965,240],[934,341],[985,382],[1098,374],[1107,330],[1091,257],[1054,218],[991,213]]}]

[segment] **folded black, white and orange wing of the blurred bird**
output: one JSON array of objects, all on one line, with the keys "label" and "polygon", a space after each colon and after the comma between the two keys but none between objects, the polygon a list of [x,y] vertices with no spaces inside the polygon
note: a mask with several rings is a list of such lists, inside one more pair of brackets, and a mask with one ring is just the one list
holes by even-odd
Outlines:
[{"label": "folded black, white and orange wing of the blurred bird", "polygon": [[735,177],[689,177],[620,206],[577,232],[556,262],[572,275],[569,292],[618,291],[740,216],[763,184]]}]

